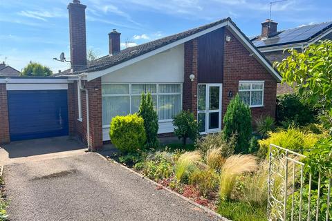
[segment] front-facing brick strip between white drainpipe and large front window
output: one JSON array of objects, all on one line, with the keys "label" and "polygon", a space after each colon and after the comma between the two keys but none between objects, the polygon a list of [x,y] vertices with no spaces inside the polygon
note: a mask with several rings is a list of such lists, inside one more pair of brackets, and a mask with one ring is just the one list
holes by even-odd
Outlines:
[{"label": "front-facing brick strip between white drainpipe and large front window", "polygon": [[89,91],[90,144],[93,151],[102,148],[102,80],[86,82]]}]

